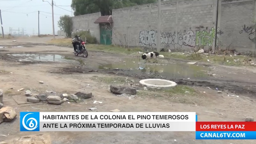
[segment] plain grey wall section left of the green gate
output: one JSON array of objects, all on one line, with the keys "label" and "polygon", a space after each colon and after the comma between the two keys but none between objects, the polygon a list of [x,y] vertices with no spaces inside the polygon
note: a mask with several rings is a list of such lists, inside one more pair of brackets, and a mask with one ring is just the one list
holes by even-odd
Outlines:
[{"label": "plain grey wall section left of the green gate", "polygon": [[72,17],[73,32],[90,29],[90,33],[97,38],[97,41],[100,41],[99,24],[94,24],[100,16],[101,12]]}]

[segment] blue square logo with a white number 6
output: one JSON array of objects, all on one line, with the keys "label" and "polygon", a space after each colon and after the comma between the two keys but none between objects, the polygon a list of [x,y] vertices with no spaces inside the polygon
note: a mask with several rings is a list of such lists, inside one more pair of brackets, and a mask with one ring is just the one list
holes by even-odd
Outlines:
[{"label": "blue square logo with a white number 6", "polygon": [[20,112],[20,131],[39,131],[39,112]]}]

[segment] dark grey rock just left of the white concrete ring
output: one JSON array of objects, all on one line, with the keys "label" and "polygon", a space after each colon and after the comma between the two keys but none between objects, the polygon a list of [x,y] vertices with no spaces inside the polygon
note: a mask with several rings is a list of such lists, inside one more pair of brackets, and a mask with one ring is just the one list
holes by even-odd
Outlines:
[{"label": "dark grey rock just left of the white concrete ring", "polygon": [[115,94],[128,94],[128,95],[136,95],[137,91],[135,88],[124,85],[110,85],[110,91]]}]

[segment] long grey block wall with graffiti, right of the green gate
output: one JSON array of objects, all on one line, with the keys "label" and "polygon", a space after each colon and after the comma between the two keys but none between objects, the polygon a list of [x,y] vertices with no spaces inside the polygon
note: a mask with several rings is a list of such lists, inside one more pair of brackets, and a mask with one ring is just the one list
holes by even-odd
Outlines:
[{"label": "long grey block wall with graffiti, right of the green gate", "polygon": [[[184,49],[215,44],[217,1],[169,0],[161,3],[161,47]],[[129,46],[157,44],[157,3],[112,11],[113,43]],[[212,29],[213,28],[213,29]]]}]

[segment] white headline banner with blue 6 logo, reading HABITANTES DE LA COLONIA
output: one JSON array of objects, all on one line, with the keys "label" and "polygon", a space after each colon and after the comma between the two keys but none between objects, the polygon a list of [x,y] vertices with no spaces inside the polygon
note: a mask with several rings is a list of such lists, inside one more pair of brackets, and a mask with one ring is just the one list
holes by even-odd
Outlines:
[{"label": "white headline banner with blue 6 logo, reading HABITANTES DE LA COLONIA", "polygon": [[195,130],[195,112],[20,112],[20,131]]}]

